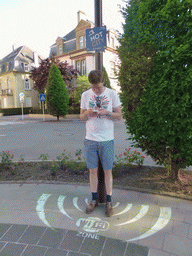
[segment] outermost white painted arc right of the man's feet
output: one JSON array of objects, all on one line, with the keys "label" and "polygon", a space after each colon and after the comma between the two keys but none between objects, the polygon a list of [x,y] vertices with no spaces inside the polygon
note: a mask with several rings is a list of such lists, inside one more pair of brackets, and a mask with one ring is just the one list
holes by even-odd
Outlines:
[{"label": "outermost white painted arc right of the man's feet", "polygon": [[163,229],[169,223],[170,220],[171,220],[171,208],[160,207],[160,215],[156,223],[143,235],[127,240],[127,242],[140,240],[148,236],[154,235],[155,233]]}]

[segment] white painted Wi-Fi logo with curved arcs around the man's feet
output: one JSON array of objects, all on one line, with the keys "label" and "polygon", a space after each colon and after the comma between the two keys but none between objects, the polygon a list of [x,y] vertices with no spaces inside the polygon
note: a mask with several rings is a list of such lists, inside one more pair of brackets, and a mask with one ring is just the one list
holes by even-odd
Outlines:
[{"label": "white painted Wi-Fi logo with curved arcs around the man's feet", "polygon": [[[48,204],[49,198],[52,194],[45,194],[43,193],[39,199],[37,200],[36,204],[36,212],[39,216],[39,218],[43,221],[43,223],[50,227],[53,228],[50,225],[50,221],[47,220],[46,215],[50,213],[50,209],[46,209],[46,205]],[[60,195],[57,198],[57,211],[64,215],[68,220],[70,220],[73,224],[78,227],[79,230],[83,232],[88,232],[88,233],[103,233],[111,229],[111,231],[115,231],[118,228],[121,230],[125,230],[129,234],[132,232],[132,229],[129,227],[132,227],[131,225],[136,225],[135,229],[140,228],[140,222],[145,221],[145,218],[150,219],[151,215],[149,213],[150,208],[149,205],[133,205],[132,203],[128,203],[121,211],[117,211],[119,209],[118,206],[121,204],[117,202],[114,205],[114,211],[115,213],[110,217],[107,218],[107,221],[105,220],[106,218],[101,218],[101,217],[96,217],[93,216],[94,212],[91,215],[85,214],[85,207],[88,205],[88,199],[85,199],[84,202],[84,209],[82,210],[81,207],[78,204],[78,201],[80,198],[74,197],[72,200],[72,207],[70,208],[69,205],[66,203],[67,196]],[[81,199],[82,200],[82,199]],[[118,207],[118,208],[117,208]],[[157,207],[157,206],[156,206]],[[121,207],[122,208],[122,207]],[[137,208],[137,210],[135,210]],[[141,232],[138,232],[138,236],[128,238],[127,241],[134,241],[134,240],[139,240],[146,238],[148,236],[151,236],[160,230],[162,230],[170,221],[171,219],[171,208],[170,207],[159,207],[159,213],[158,216],[156,216],[154,222],[150,224],[145,232],[140,234]],[[54,210],[55,212],[55,210]],[[95,213],[96,214],[96,213]],[[154,217],[153,217],[154,218]],[[54,229],[54,228],[53,228]],[[135,234],[135,232],[134,232]]]}]

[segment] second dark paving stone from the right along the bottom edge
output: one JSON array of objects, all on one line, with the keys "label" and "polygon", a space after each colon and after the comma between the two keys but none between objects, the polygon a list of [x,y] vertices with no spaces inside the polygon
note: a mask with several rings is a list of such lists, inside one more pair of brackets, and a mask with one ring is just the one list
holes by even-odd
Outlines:
[{"label": "second dark paving stone from the right along the bottom edge", "polygon": [[102,251],[103,256],[124,256],[127,242],[121,240],[115,240],[107,238],[104,249]]}]

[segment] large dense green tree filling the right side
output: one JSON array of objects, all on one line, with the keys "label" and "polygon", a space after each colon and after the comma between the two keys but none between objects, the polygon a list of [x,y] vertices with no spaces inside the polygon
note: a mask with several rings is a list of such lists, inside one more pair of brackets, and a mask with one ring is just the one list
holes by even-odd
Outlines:
[{"label": "large dense green tree filling the right side", "polygon": [[[159,164],[169,164],[172,180],[178,179],[180,168],[192,165],[191,10],[189,0],[132,0],[124,9],[119,48],[121,97],[130,139]],[[139,50],[142,54],[134,61]],[[131,76],[134,67],[147,59],[149,65],[141,66],[148,70],[140,71],[138,79]],[[128,72],[123,74],[125,67]],[[138,81],[145,76],[138,92],[142,88]]]}]

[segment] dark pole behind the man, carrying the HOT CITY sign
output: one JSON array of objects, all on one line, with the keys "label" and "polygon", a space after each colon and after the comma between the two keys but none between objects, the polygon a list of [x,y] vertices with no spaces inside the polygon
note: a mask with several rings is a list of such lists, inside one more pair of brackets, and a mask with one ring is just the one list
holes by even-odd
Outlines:
[{"label": "dark pole behind the man, carrying the HOT CITY sign", "polygon": [[[95,0],[95,27],[102,26],[102,0]],[[103,53],[95,52],[95,69],[103,70]],[[98,163],[98,187],[97,187],[99,203],[105,202],[106,191],[105,191],[105,178],[104,170],[99,159]]]}]

